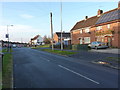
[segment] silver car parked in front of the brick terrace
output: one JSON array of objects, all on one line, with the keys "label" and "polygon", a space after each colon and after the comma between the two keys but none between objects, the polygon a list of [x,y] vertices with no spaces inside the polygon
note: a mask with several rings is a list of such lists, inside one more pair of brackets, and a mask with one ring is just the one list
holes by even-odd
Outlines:
[{"label": "silver car parked in front of the brick terrace", "polygon": [[108,46],[105,45],[105,43],[100,42],[100,41],[95,41],[92,42],[88,45],[88,47],[90,48],[95,48],[95,49],[99,49],[99,48],[108,48]]}]

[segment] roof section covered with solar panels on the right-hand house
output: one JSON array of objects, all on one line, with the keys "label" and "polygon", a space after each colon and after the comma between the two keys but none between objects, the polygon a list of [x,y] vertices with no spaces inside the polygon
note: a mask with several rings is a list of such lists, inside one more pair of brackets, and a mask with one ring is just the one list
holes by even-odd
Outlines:
[{"label": "roof section covered with solar panels on the right-hand house", "polygon": [[120,19],[120,9],[116,8],[103,13],[96,22],[96,24],[106,23],[118,19]]}]

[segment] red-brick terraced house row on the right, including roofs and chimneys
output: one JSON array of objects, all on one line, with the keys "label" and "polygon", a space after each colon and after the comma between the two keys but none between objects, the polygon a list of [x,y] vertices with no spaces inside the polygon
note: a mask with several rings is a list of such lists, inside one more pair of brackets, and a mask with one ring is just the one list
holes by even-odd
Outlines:
[{"label": "red-brick terraced house row on the right, including roofs and chimneys", "polygon": [[98,10],[93,17],[86,16],[70,30],[71,44],[105,42],[108,46],[120,48],[120,2],[118,7],[104,12]]}]

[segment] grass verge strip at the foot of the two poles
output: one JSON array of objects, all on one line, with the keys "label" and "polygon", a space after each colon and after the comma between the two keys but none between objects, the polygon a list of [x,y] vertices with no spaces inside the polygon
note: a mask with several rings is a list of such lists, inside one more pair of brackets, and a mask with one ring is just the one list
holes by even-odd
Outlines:
[{"label": "grass verge strip at the foot of the two poles", "polygon": [[61,50],[51,50],[51,49],[42,49],[42,51],[46,51],[46,52],[50,52],[50,53],[55,53],[55,54],[60,54],[60,55],[72,55],[72,54],[76,54],[76,52],[61,51]]}]

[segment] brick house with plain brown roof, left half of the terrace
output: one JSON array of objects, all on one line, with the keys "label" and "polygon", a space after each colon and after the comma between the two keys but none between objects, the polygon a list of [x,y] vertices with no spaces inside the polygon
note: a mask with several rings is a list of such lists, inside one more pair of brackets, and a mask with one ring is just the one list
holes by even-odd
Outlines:
[{"label": "brick house with plain brown roof, left half of the terrace", "polygon": [[93,32],[93,26],[98,18],[97,15],[90,18],[86,16],[84,20],[77,22],[70,31],[71,44],[88,44],[94,41],[95,34]]}]

